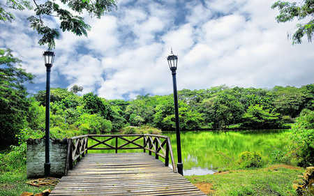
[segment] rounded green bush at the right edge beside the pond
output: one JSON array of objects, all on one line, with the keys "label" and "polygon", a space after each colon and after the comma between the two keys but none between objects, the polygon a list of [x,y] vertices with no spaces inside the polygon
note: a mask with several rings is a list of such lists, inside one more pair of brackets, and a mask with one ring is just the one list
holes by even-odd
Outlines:
[{"label": "rounded green bush at the right edge beside the pond", "polygon": [[314,111],[303,110],[292,125],[288,137],[292,163],[301,167],[314,165]]}]

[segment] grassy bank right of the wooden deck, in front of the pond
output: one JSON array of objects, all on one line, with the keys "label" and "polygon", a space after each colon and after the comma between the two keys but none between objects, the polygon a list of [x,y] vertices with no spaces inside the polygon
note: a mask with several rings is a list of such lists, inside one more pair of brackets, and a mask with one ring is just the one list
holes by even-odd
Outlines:
[{"label": "grassy bank right of the wooden deck, in front of the pond", "polygon": [[186,179],[201,190],[207,184],[202,191],[208,195],[297,195],[292,183],[299,174],[302,170],[298,168],[268,167],[186,176]]}]

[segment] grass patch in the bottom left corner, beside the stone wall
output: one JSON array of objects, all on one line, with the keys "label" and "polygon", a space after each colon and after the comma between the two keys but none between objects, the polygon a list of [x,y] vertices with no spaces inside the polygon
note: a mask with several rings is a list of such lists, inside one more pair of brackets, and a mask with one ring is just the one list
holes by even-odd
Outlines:
[{"label": "grass patch in the bottom left corner, beside the stone wall", "polygon": [[[18,196],[23,192],[41,193],[47,187],[36,187],[27,184],[26,166],[15,170],[14,172],[0,173],[0,195],[2,196]],[[52,188],[49,188],[52,190]]]}]

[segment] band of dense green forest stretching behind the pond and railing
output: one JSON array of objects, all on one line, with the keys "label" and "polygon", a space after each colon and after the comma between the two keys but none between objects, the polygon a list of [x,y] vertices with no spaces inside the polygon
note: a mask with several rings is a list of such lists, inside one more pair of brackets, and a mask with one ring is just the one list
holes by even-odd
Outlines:
[{"label": "band of dense green forest stretching behind the pond and railing", "polygon": [[[127,126],[153,126],[160,130],[174,130],[175,126],[172,94],[106,100],[94,93],[77,96],[68,89],[56,88],[51,89],[50,97],[52,137],[117,132]],[[314,110],[314,84],[300,88],[222,85],[194,91],[183,89],[178,91],[178,98],[181,130],[290,128],[302,110]],[[44,133],[45,91],[24,96],[18,103],[8,102],[8,107],[1,106],[6,109],[0,114],[1,138],[12,143],[17,140],[15,136],[26,130]]]}]

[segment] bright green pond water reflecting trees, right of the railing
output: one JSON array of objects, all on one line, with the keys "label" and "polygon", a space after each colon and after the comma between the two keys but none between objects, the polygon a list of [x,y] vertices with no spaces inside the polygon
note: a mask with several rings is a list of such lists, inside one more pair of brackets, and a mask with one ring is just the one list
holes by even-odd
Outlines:
[{"label": "bright green pond water reflecting trees, right of the railing", "polygon": [[[243,151],[256,151],[268,157],[274,147],[284,150],[285,137],[289,130],[246,130],[246,131],[188,131],[181,132],[181,149],[184,169],[190,174],[210,172],[225,167],[219,157],[237,159]],[[177,140],[174,132],[163,132],[171,139],[174,159],[177,160]],[[214,169],[213,169],[214,168]]]}]

